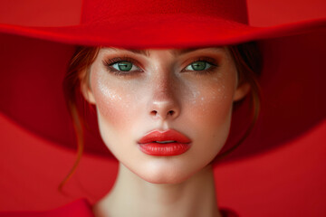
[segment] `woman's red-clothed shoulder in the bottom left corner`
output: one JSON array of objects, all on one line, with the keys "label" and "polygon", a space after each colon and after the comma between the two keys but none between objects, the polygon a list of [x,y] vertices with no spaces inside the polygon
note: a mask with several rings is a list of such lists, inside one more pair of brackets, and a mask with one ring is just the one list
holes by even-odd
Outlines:
[{"label": "woman's red-clothed shoulder in the bottom left corner", "polygon": [[86,199],[79,199],[50,211],[0,212],[0,217],[94,217],[91,204]]}]

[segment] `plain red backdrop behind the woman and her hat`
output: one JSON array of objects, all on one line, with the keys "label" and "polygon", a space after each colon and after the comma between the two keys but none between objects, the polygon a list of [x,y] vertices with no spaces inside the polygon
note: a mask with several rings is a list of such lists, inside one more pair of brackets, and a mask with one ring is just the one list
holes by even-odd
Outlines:
[{"label": "plain red backdrop behind the woman and her hat", "polygon": [[[0,22],[77,24],[80,8],[79,0],[1,1]],[[251,24],[271,25],[324,17],[326,3],[250,0],[248,9]],[[268,154],[217,165],[220,206],[240,216],[326,216],[325,133],[326,121],[321,121]],[[31,135],[1,114],[0,155],[0,211],[51,209],[79,197],[93,203],[109,192],[117,171],[116,162],[85,155],[65,193],[59,193],[57,186],[75,154]]]}]

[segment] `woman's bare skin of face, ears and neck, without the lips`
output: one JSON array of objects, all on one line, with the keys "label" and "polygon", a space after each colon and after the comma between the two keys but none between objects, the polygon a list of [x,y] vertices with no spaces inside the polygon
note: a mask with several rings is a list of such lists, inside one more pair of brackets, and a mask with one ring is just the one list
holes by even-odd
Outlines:
[{"label": "woman's bare skin of face, ears and neck, without the lips", "polygon": [[[120,161],[112,191],[96,216],[221,216],[210,162],[227,138],[238,87],[225,47],[187,50],[101,48],[82,75],[82,93],[96,105],[101,137]],[[151,156],[139,139],[174,129],[190,138],[177,156]]]}]

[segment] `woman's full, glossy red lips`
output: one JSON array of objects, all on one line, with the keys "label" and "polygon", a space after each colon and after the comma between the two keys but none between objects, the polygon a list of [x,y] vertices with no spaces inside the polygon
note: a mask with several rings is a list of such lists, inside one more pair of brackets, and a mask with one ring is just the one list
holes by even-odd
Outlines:
[{"label": "woman's full, glossy red lips", "polygon": [[[165,142],[167,143],[158,143]],[[154,130],[139,139],[140,150],[150,156],[178,156],[190,148],[191,140],[176,130]]]}]

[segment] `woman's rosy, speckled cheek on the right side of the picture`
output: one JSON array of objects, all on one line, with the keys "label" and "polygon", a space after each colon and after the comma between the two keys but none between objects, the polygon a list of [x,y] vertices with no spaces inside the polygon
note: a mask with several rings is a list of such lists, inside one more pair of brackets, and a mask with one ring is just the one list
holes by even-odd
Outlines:
[{"label": "woman's rosy, speckled cheek on the right side of the picture", "polygon": [[209,163],[225,145],[228,137],[235,77],[220,76],[192,90],[189,94],[189,109],[185,114],[191,121],[188,126],[193,126],[188,128],[188,132],[197,138],[199,146],[193,146],[197,158]]}]

